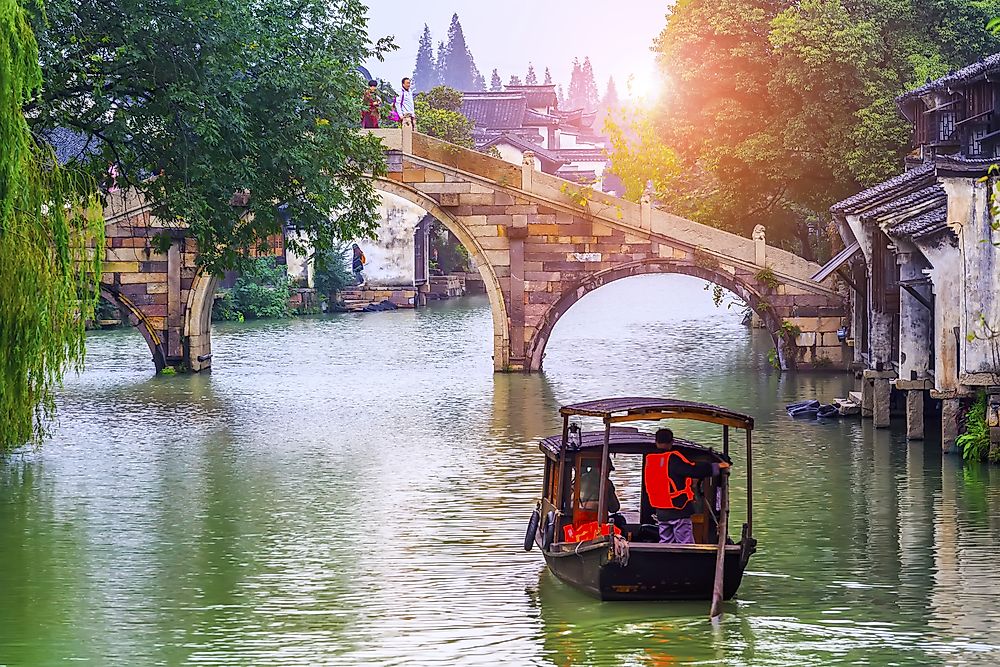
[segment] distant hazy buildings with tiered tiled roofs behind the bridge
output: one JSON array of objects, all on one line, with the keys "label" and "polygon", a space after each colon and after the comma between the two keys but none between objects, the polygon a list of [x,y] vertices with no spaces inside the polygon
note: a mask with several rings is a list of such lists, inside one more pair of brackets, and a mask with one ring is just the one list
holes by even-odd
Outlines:
[{"label": "distant hazy buildings with tiered tiled roofs behind the bridge", "polygon": [[554,84],[462,94],[462,113],[475,123],[476,148],[495,147],[516,165],[531,151],[536,168],[547,174],[602,186],[607,139],[594,128],[597,112],[559,109]]}]

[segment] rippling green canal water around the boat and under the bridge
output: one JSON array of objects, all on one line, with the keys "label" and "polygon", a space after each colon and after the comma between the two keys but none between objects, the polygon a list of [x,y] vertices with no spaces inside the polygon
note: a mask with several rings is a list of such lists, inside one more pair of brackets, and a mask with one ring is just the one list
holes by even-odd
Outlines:
[{"label": "rippling green canal water around the boat and under the bridge", "polygon": [[[630,278],[534,376],[492,373],[483,298],[218,326],[191,377],[95,333],[51,440],[0,463],[0,665],[1000,662],[1000,470],[789,419],[848,382],[773,372],[740,319]],[[521,548],[558,406],[624,394],[757,419],[760,548],[718,628],[707,603],[596,602]]]}]

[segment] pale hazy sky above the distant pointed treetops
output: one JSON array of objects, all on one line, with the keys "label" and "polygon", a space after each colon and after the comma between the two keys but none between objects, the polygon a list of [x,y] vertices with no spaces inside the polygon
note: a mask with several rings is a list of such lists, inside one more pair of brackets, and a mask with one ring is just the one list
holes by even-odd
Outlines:
[{"label": "pale hazy sky above the distant pointed treetops", "polygon": [[[528,61],[541,83],[546,67],[563,88],[569,85],[573,58],[590,56],[598,90],[608,76],[624,93],[629,74],[637,87],[655,81],[649,48],[666,23],[670,0],[369,0],[369,34],[393,35],[399,50],[384,63],[367,63],[373,76],[394,85],[413,72],[417,42],[426,23],[435,49],[445,40],[451,15],[458,13],[465,39],[486,77],[496,67],[504,83],[511,74],[524,79]],[[643,90],[643,92],[645,92]]]}]

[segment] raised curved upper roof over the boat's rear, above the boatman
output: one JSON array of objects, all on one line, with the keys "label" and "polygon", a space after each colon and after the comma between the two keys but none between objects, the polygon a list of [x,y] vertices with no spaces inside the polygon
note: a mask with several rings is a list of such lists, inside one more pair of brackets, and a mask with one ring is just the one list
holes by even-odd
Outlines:
[{"label": "raised curved upper roof over the boat's rear, above the boatman", "polygon": [[669,398],[602,398],[566,405],[559,409],[564,417],[579,415],[600,417],[608,423],[660,419],[692,419],[750,430],[753,417],[717,405],[676,401]]}]

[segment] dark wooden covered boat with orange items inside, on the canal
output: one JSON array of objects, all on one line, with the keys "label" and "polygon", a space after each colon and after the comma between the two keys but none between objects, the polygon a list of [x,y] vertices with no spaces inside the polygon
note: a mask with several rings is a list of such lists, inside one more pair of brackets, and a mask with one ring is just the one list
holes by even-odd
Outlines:
[{"label": "dark wooden covered boat with orange items inside, on the canal", "polygon": [[[560,414],[562,435],[540,443],[545,454],[542,498],[529,521],[525,549],[538,546],[559,579],[601,600],[709,600],[713,599],[713,587],[721,588],[716,599],[719,595],[732,598],[757,544],[751,483],[753,418],[713,405],[659,398],[589,401],[565,406]],[[581,430],[579,421],[583,418],[602,420],[603,430]],[[663,419],[722,427],[721,451],[675,436],[673,448],[692,462],[732,464],[730,429],[746,432],[746,523],[739,542],[734,543],[728,535],[728,474],[695,484],[695,544],[659,542],[655,510],[641,480],[647,456],[660,450],[652,433],[619,425]],[[639,506],[611,513],[611,470],[616,463],[622,466],[630,459],[633,472],[641,471]],[[595,473],[600,479],[596,508],[595,501],[581,499],[581,479]],[[592,485],[593,478],[588,482]],[[613,536],[615,527],[621,531],[618,536]],[[723,555],[718,559],[722,542]]]}]

